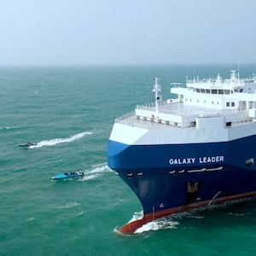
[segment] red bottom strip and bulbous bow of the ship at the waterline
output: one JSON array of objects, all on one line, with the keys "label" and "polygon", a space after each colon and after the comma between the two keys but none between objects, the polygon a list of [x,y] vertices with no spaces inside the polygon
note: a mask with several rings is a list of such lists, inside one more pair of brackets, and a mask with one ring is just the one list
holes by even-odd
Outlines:
[{"label": "red bottom strip and bulbous bow of the ship at the waterline", "polygon": [[256,191],[248,192],[248,193],[244,193],[244,194],[240,194],[240,195],[225,196],[222,198],[213,199],[213,200],[209,200],[209,201],[201,201],[201,202],[196,202],[196,203],[181,206],[181,207],[169,208],[169,209],[159,211],[159,212],[148,213],[148,214],[144,215],[143,218],[141,218],[141,219],[137,219],[135,221],[125,224],[119,230],[119,232],[121,232],[123,234],[134,234],[135,231],[137,229],[141,228],[144,224],[147,224],[157,218],[163,218],[163,217],[169,216],[173,213],[188,212],[189,210],[192,210],[192,209],[220,204],[220,203],[223,203],[224,201],[231,201],[231,200],[236,200],[236,199],[241,199],[241,198],[252,197],[253,195],[256,195]]}]

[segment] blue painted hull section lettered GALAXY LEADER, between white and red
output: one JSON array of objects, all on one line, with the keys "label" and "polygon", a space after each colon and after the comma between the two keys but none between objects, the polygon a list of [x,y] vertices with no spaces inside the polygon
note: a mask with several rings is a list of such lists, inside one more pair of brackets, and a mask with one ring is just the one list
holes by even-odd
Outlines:
[{"label": "blue painted hull section lettered GALAXY LEADER, between white and red", "polygon": [[256,136],[225,143],[125,145],[109,141],[108,166],[130,186],[144,215],[255,195]]}]

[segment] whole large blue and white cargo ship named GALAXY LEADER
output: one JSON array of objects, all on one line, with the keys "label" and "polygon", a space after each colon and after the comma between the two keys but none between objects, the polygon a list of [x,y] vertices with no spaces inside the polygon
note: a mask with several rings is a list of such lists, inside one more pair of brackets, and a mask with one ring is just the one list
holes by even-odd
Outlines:
[{"label": "whole large blue and white cargo ship named GALAXY LEADER", "polygon": [[256,195],[256,77],[186,79],[163,101],[115,119],[108,166],[137,195],[143,218],[119,231],[132,234],[157,218]]}]

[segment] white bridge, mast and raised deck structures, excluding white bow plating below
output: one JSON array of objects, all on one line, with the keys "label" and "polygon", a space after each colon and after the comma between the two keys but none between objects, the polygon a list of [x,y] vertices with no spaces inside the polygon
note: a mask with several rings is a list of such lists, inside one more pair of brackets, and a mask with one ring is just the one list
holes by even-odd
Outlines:
[{"label": "white bridge, mast and raised deck structures, excluding white bow plating below", "polygon": [[[224,116],[227,122],[252,121],[256,112],[256,78],[240,79],[234,70],[230,79],[187,80],[187,86],[172,84],[177,99],[160,102],[160,85],[155,79],[154,107],[137,106],[137,119],[188,127],[196,118]],[[158,90],[156,90],[158,88]],[[181,104],[182,103],[182,104]]]}]

